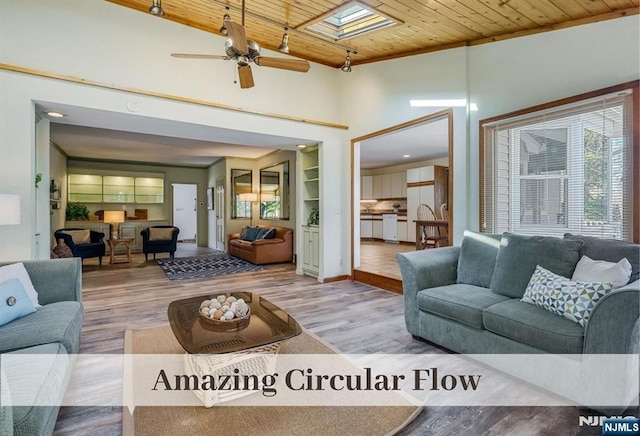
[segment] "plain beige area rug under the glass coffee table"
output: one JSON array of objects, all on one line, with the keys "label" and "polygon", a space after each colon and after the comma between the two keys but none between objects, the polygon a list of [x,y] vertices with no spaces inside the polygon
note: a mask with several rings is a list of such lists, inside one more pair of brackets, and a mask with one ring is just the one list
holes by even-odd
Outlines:
[{"label": "plain beige area rug under the glass coffee table", "polygon": [[[128,330],[126,353],[184,353],[169,326]],[[314,334],[303,331],[286,340],[280,353],[339,352]],[[366,395],[366,394],[363,394]],[[391,435],[418,416],[421,408],[396,407],[136,407],[123,409],[124,436],[298,436],[348,434]]]}]

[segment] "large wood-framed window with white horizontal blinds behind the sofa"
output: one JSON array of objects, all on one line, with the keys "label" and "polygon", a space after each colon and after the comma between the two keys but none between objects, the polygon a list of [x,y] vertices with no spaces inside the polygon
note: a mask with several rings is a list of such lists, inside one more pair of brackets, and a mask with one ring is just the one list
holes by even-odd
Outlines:
[{"label": "large wood-framed window with white horizontal blinds behind the sofa", "polygon": [[481,121],[481,230],[637,241],[637,96],[633,82]]}]

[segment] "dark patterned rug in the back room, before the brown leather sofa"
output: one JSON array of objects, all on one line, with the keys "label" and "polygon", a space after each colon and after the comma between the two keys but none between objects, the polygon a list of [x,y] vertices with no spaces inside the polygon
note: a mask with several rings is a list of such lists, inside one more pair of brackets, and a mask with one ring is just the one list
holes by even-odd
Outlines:
[{"label": "dark patterned rug in the back room, before the brown leather sofa", "polygon": [[264,269],[263,266],[254,265],[222,252],[206,256],[157,259],[156,262],[169,280],[201,279]]}]

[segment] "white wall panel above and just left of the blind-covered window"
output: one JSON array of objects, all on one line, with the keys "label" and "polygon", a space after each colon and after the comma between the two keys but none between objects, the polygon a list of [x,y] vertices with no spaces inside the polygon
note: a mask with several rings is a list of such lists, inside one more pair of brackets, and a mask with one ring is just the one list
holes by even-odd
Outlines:
[{"label": "white wall panel above and just left of the blind-covered window", "polygon": [[479,226],[479,121],[640,78],[640,17],[603,21],[469,51],[470,228]]}]

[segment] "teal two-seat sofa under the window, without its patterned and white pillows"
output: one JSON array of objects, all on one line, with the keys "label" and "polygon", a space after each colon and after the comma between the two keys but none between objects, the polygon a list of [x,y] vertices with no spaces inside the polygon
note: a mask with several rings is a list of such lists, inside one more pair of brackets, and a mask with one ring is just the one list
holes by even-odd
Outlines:
[{"label": "teal two-seat sofa under the window, without its patterned and white pillows", "polygon": [[[507,248],[508,247],[508,248]],[[585,327],[545,309],[520,301],[536,265],[571,277],[576,263],[592,259],[632,265],[629,283],[601,298]],[[640,344],[640,245],[566,234],[564,238],[465,232],[460,247],[444,247],[398,254],[402,273],[404,315],[414,338],[426,340],[532,382],[565,398],[585,404],[593,394],[582,389],[581,373],[588,355],[638,355]],[[548,368],[509,365],[499,356],[546,354],[570,368],[566,382],[550,377]],[[508,360],[504,359],[503,360]],[[637,369],[636,369],[637,371]],[[573,379],[572,379],[573,378]],[[637,372],[630,372],[624,399],[638,395]],[[587,382],[588,383],[588,382]],[[610,412],[618,406],[599,408]]]}]

